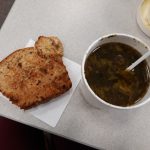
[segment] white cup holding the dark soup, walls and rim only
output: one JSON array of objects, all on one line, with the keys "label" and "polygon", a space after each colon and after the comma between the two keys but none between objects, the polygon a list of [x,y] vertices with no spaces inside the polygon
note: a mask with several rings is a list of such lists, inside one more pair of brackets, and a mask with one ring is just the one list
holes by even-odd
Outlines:
[{"label": "white cup holding the dark soup, walls and rim only", "polygon": [[[148,51],[148,46],[142,42],[140,39],[133,37],[131,35],[127,34],[120,34],[120,33],[114,33],[114,34],[109,34],[103,37],[98,38],[96,41],[94,41],[88,48],[88,50],[85,52],[83,61],[82,61],[82,81],[81,81],[81,91],[83,93],[84,99],[90,103],[91,105],[97,107],[97,108],[106,108],[106,107],[111,107],[115,109],[133,109],[140,107],[150,101],[150,88],[148,89],[147,93],[145,96],[136,104],[128,107],[121,107],[121,106],[116,106],[112,105],[110,103],[105,102],[102,100],[100,97],[98,97],[93,90],[90,88],[86,78],[85,78],[85,62],[88,57],[88,55],[95,50],[95,48],[99,47],[102,44],[109,43],[109,42],[120,42],[127,44],[136,50],[138,50],[141,54],[144,54]],[[147,59],[148,65],[150,66],[150,58]]]}]

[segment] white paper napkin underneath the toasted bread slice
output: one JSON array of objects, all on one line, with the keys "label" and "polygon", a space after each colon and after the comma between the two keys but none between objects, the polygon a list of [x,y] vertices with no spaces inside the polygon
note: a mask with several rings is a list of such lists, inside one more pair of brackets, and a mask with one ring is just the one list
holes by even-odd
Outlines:
[{"label": "white paper napkin underneath the toasted bread slice", "polygon": [[[33,45],[34,41],[31,39],[27,43],[26,47],[32,47]],[[63,111],[69,103],[69,100],[81,79],[81,66],[79,64],[65,57],[63,57],[63,62],[72,81],[72,88],[65,94],[51,100],[50,102],[27,110],[27,112],[52,127],[55,127],[58,123]]]}]

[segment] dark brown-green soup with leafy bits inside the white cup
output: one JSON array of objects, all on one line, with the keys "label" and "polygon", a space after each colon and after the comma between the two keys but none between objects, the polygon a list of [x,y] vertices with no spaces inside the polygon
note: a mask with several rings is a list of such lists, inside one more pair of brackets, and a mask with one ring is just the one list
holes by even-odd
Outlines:
[{"label": "dark brown-green soup with leafy bits inside the white cup", "polygon": [[85,63],[85,77],[91,89],[104,101],[117,106],[138,102],[149,87],[149,67],[143,61],[132,71],[125,69],[141,54],[122,43],[96,48]]}]

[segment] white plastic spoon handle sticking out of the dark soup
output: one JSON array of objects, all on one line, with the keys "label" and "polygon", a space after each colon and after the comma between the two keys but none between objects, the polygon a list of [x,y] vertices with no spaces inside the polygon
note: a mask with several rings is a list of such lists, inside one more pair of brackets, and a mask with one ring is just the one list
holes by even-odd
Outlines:
[{"label": "white plastic spoon handle sticking out of the dark soup", "polygon": [[150,55],[150,50],[147,51],[142,57],[140,57],[139,59],[137,59],[134,63],[132,63],[127,70],[130,71],[132,70],[134,67],[136,67],[139,63],[141,63],[144,59],[146,59],[148,56]]}]

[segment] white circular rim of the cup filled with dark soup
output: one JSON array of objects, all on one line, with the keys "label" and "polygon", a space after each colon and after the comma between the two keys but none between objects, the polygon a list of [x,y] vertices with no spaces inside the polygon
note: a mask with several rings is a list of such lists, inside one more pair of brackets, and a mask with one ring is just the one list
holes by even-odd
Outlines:
[{"label": "white circular rim of the cup filled with dark soup", "polygon": [[89,54],[89,51],[91,50],[91,48],[100,40],[102,39],[105,39],[105,38],[108,38],[108,37],[111,37],[111,36],[123,36],[123,37],[127,37],[127,38],[131,38],[131,39],[135,39],[137,42],[140,42],[142,43],[148,50],[150,50],[149,46],[143,42],[142,40],[140,40],[139,38],[135,37],[135,36],[132,36],[132,35],[129,35],[129,34],[125,34],[125,33],[111,33],[111,34],[107,34],[107,35],[104,35],[104,36],[101,36],[99,37],[98,39],[96,39],[87,49],[87,51],[85,52],[84,54],[84,57],[83,57],[83,60],[82,60],[82,65],[81,65],[81,74],[82,74],[82,79],[83,79],[83,82],[85,84],[85,86],[87,87],[88,91],[94,96],[94,98],[103,103],[104,105],[107,105],[111,108],[115,108],[115,109],[120,109],[120,110],[129,110],[129,109],[134,109],[134,108],[138,108],[138,107],[141,107],[143,106],[144,104],[148,103],[150,101],[150,97],[148,99],[146,99],[145,101],[139,103],[139,104],[136,104],[136,105],[131,105],[131,106],[127,106],[127,107],[123,107],[123,106],[117,106],[117,105],[113,105],[111,103],[108,103],[106,101],[104,101],[103,99],[101,99],[100,97],[98,97],[96,95],[96,93],[91,89],[91,87],[89,86],[86,78],[85,78],[85,71],[84,71],[84,67],[85,67],[85,62],[86,62],[86,59],[87,59],[87,56]]}]

